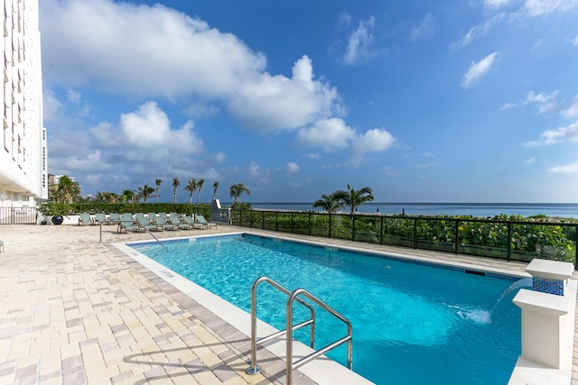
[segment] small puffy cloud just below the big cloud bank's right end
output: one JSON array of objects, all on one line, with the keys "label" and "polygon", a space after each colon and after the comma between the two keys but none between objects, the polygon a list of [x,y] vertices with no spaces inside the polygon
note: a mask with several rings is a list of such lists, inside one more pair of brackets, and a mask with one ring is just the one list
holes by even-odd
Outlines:
[{"label": "small puffy cloud just below the big cloud bank's right end", "polygon": [[345,148],[355,139],[355,131],[339,118],[324,119],[299,131],[297,142],[319,146],[325,151]]}]

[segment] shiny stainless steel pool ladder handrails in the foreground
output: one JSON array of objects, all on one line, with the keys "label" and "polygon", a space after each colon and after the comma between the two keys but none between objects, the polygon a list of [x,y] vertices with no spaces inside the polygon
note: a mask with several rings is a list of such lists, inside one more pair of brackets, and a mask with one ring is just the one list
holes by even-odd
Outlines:
[{"label": "shiny stainless steel pool ladder handrails in the foreground", "polygon": [[[281,330],[279,332],[276,332],[272,335],[266,335],[265,337],[260,338],[258,341],[256,339],[256,289],[259,286],[260,283],[262,282],[266,282],[268,284],[270,284],[271,286],[273,286],[275,289],[278,289],[282,292],[284,292],[284,294],[286,294],[287,296],[289,296],[289,298],[287,298],[287,303],[286,303],[286,316],[285,316],[285,329]],[[340,339],[338,339],[337,341],[328,344],[324,347],[322,347],[322,349],[319,349],[309,355],[304,356],[303,358],[301,358],[300,360],[298,360],[297,362],[293,362],[293,332],[294,330],[300,329],[306,325],[310,325],[310,346],[311,348],[314,350],[315,349],[315,310],[312,307],[311,304],[309,304],[308,302],[304,301],[303,298],[299,298],[300,295],[303,295],[306,298],[309,298],[313,303],[315,303],[317,306],[322,307],[323,310],[329,312],[332,316],[337,317],[338,319],[340,319],[343,323],[345,323],[345,325],[347,325],[347,335],[344,337],[341,337]],[[304,307],[309,308],[311,317],[306,320],[303,321],[302,323],[299,323],[297,325],[293,325],[293,303],[294,301],[299,302],[300,304],[302,304]],[[287,384],[290,385],[292,380],[293,380],[293,371],[301,366],[303,366],[305,363],[312,361],[313,359],[319,357],[320,355],[322,355],[323,353],[327,353],[329,352],[331,349],[336,348],[337,346],[340,346],[340,344],[345,344],[347,343],[347,367],[348,369],[352,369],[352,339],[353,339],[353,327],[351,326],[350,320],[347,319],[345,316],[342,316],[338,311],[336,311],[335,309],[333,309],[332,307],[330,307],[329,305],[327,305],[326,303],[324,303],[321,299],[316,298],[315,296],[313,296],[309,291],[305,290],[305,289],[294,289],[294,291],[289,291],[288,289],[285,289],[283,286],[281,286],[279,283],[275,282],[275,280],[271,280],[268,277],[259,277],[255,280],[255,282],[253,282],[253,286],[251,287],[251,363],[248,368],[247,368],[247,374],[257,374],[261,371],[261,368],[259,368],[256,365],[256,347],[258,345],[261,344],[265,344],[266,342],[269,342],[271,340],[274,340],[277,337],[280,337],[282,335],[285,335],[285,342],[286,342],[286,363],[287,363]]]}]

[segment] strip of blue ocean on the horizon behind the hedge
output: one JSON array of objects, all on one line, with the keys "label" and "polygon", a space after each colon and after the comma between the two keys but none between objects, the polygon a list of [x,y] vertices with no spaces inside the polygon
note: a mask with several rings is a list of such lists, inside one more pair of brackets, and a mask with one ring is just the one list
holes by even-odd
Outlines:
[{"label": "strip of blue ocean on the horizon behind the hedge", "polygon": [[[230,203],[223,203],[230,206]],[[255,209],[319,211],[311,202],[251,202]],[[341,212],[348,212],[347,208]],[[473,215],[492,217],[494,215],[546,215],[578,219],[576,203],[385,203],[369,202],[358,207],[359,213],[379,213],[395,215]]]}]

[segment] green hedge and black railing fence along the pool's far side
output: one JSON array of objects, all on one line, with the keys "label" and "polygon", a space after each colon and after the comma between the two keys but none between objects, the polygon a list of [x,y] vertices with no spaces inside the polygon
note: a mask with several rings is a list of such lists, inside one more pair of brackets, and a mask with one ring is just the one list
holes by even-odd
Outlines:
[{"label": "green hedge and black railing fence along the pool's far side", "polygon": [[481,219],[232,210],[231,224],[508,261],[570,261],[578,267],[577,223],[524,220],[520,215]]}]

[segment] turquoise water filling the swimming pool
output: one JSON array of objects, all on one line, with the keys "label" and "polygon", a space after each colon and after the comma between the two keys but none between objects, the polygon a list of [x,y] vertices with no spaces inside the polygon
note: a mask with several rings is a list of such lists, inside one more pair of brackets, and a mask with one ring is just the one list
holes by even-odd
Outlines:
[{"label": "turquoise water filling the swimming pool", "polygon": [[[350,319],[353,370],[378,384],[506,384],[520,352],[516,290],[499,300],[515,278],[247,234],[164,244],[129,245],[247,312],[260,276],[309,290]],[[257,316],[283,329],[285,300],[260,286]],[[317,346],[345,334],[317,314]],[[295,336],[308,344],[307,332]],[[344,346],[328,355],[345,365]]]}]

